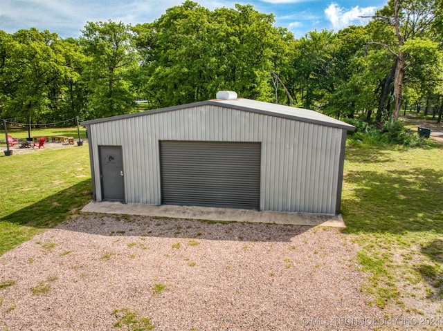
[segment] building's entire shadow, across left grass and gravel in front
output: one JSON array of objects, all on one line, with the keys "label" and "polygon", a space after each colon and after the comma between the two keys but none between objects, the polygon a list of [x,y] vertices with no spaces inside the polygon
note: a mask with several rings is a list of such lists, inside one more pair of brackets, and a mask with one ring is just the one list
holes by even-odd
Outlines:
[{"label": "building's entire shadow, across left grass and gravel in front", "polygon": [[[0,221],[35,229],[65,229],[99,236],[200,238],[229,241],[290,241],[311,226],[218,222],[157,216],[82,213],[91,200],[91,180],[57,191]],[[16,236],[10,233],[6,236]],[[23,241],[28,238],[23,238]]]}]

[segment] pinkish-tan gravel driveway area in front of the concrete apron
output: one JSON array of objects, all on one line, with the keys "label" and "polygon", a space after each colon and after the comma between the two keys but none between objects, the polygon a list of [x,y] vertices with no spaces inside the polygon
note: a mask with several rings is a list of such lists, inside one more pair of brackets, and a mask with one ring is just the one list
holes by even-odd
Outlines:
[{"label": "pinkish-tan gravel driveway area in front of the concrete apron", "polygon": [[374,330],[357,249],[329,227],[82,214],[0,256],[0,330]]}]

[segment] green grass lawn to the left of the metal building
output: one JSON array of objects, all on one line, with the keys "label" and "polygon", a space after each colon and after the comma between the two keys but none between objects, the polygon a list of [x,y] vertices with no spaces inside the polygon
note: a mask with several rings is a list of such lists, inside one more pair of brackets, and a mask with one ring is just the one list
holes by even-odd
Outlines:
[{"label": "green grass lawn to the left of the metal building", "polygon": [[0,154],[0,255],[68,219],[91,198],[87,144]]}]

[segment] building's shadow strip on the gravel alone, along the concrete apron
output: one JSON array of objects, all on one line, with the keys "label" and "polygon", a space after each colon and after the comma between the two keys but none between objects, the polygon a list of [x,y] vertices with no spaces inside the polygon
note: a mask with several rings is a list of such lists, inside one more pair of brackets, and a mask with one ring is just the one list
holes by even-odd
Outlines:
[{"label": "building's shadow strip on the gravel alone, along the concrete apron", "polygon": [[289,242],[311,226],[222,222],[161,216],[82,213],[57,229],[99,236],[138,236],[201,240]]}]

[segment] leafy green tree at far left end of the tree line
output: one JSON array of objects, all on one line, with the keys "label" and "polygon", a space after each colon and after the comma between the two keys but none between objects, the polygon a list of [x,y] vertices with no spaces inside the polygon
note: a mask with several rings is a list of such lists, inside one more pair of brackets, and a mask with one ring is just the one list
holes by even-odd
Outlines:
[{"label": "leafy green tree at far left end of the tree line", "polygon": [[37,122],[51,113],[51,93],[62,93],[57,81],[71,74],[64,68],[60,53],[53,49],[59,40],[55,33],[35,28],[19,30],[11,37],[3,34],[3,117]]}]

